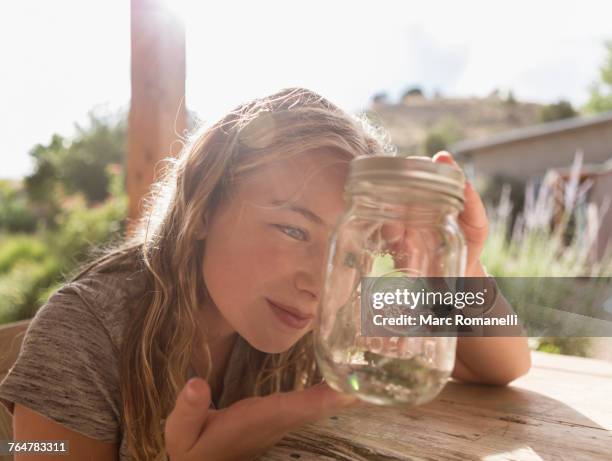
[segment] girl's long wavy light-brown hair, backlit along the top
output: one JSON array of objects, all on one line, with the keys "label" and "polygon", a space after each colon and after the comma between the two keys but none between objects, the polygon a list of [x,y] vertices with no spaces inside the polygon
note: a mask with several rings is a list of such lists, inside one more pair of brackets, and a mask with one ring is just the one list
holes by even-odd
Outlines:
[{"label": "girl's long wavy light-brown hair, backlit along the top", "polygon": [[[359,155],[393,154],[385,132],[306,89],[289,88],[243,104],[209,128],[194,132],[177,158],[167,160],[146,211],[130,237],[84,267],[90,272],[134,269],[146,288],[135,302],[121,346],[122,424],[137,461],[166,458],[163,423],[188,378],[194,352],[214,357],[197,312],[211,298],[202,277],[204,240],[197,237],[240,178],[275,159],[315,149]],[[320,381],[312,334],[289,350],[250,348],[244,380],[231,401],[299,390]]]}]

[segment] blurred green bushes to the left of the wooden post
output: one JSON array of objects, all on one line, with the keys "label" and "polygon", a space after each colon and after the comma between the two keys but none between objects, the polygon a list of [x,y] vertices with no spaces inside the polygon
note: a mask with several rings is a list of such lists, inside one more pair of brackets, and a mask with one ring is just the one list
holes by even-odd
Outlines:
[{"label": "blurred green bushes to the left of the wooden post", "polygon": [[0,323],[32,317],[92,247],[123,235],[125,141],[124,116],[90,113],[74,138],[32,149],[23,184],[0,182]]}]

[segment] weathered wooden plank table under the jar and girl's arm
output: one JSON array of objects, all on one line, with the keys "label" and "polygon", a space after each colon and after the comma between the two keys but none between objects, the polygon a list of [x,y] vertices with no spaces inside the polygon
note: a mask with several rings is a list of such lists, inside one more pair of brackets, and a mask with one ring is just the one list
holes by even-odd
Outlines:
[{"label": "weathered wooden plank table under the jar and girl's arm", "polygon": [[507,387],[451,381],[421,407],[346,410],[260,459],[612,460],[612,363],[534,352]]}]

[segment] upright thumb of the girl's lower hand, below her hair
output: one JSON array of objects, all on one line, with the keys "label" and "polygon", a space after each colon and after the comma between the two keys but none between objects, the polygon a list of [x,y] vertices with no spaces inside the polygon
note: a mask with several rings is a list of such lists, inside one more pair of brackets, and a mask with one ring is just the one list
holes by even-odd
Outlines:
[{"label": "upright thumb of the girl's lower hand, below her hair", "polygon": [[166,420],[165,444],[169,454],[187,453],[196,444],[210,415],[210,400],[206,381],[192,378],[187,382]]}]

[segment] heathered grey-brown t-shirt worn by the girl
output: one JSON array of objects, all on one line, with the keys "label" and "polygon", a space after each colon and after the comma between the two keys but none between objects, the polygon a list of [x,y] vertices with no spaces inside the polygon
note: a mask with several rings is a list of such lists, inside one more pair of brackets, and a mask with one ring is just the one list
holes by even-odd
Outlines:
[{"label": "heathered grey-brown t-shirt worn by the girl", "polygon": [[[19,356],[0,383],[0,402],[14,403],[88,437],[117,443],[130,460],[121,427],[119,351],[142,273],[93,274],[55,292],[29,324]],[[248,343],[238,336],[219,407],[231,403]],[[189,376],[193,372],[189,371]]]}]

